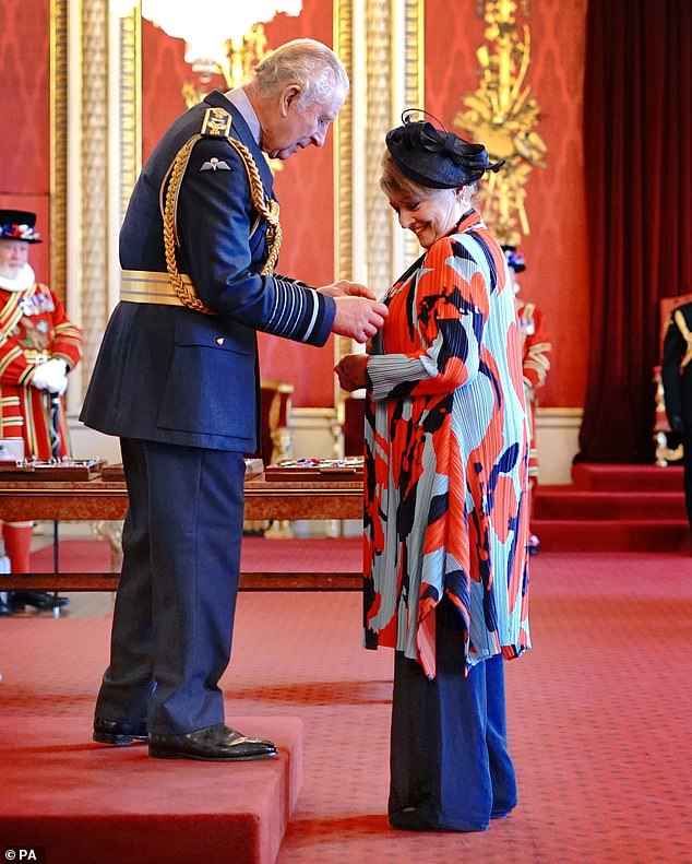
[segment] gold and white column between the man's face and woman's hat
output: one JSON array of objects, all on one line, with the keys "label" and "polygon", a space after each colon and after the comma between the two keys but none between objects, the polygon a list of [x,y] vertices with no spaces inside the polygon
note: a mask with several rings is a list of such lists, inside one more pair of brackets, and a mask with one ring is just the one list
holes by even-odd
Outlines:
[{"label": "gold and white column between the man's face and woman's hat", "polygon": [[[356,17],[360,29],[355,37]],[[407,265],[420,252],[416,239],[392,218],[379,179],[385,132],[399,122],[404,107],[425,107],[423,0],[335,0],[334,47],[351,84],[361,75],[366,80],[365,93],[351,90],[335,127],[335,275],[354,279],[365,272],[368,286],[382,295],[401,274],[401,262]],[[362,248],[354,246],[356,229]],[[357,255],[365,261],[355,261]],[[335,362],[354,350],[351,340],[335,340]],[[337,425],[343,397],[336,382]]]}]

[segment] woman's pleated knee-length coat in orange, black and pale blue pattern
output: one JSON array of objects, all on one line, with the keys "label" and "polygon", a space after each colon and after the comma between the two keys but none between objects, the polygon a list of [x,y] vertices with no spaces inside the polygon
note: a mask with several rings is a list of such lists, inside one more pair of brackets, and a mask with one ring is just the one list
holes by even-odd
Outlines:
[{"label": "woman's pleated knee-length coat in orange, black and pale blue pattern", "polygon": [[521,339],[504,255],[476,211],[385,303],[367,367],[365,642],[433,678],[443,594],[466,667],[530,647]]}]

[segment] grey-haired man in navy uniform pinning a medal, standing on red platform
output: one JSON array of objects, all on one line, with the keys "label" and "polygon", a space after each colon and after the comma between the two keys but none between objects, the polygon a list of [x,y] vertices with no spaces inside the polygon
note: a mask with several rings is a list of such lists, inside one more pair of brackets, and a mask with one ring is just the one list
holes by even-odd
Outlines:
[{"label": "grey-haired man in navy uniform pinning a medal, standing on red platform", "polygon": [[120,235],[123,294],[82,419],[120,436],[130,509],[94,738],[150,756],[276,755],[224,723],[243,518],[258,448],[256,331],[359,342],[386,308],[362,285],[274,274],[278,204],[262,155],[324,144],[348,92],[338,58],[298,39],[248,84],[179,117],[146,163]]}]

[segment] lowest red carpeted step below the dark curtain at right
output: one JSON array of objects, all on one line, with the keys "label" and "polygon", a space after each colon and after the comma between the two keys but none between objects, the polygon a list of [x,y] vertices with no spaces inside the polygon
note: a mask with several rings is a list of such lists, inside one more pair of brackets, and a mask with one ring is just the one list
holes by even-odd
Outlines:
[{"label": "lowest red carpeted step below the dark curtain at right", "polygon": [[685,552],[687,520],[536,519],[541,552]]}]

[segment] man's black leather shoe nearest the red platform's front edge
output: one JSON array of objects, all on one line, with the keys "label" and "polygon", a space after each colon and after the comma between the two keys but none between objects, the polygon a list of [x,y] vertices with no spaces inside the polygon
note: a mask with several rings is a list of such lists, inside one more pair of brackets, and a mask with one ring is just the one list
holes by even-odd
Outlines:
[{"label": "man's black leather shoe nearest the red platform's front edge", "polygon": [[207,762],[237,762],[271,759],[276,745],[248,738],[224,723],[189,732],[187,735],[150,735],[148,755],[156,759],[201,759]]}]

